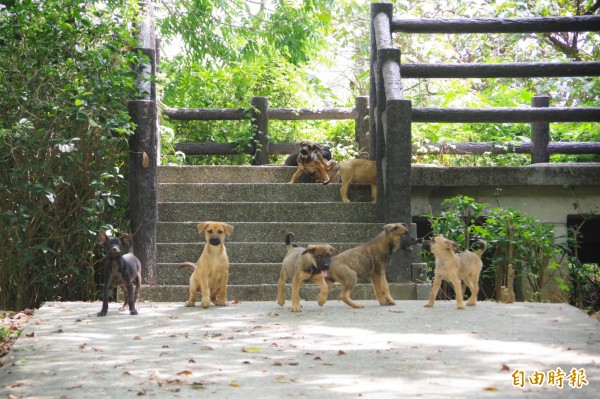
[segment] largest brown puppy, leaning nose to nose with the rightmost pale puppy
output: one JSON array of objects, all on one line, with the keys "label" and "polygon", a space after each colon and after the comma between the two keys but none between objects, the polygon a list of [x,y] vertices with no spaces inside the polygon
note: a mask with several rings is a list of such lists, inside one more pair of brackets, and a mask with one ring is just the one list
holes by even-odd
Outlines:
[{"label": "largest brown puppy, leaning nose to nose with the rightmost pale puppy", "polygon": [[362,308],[350,298],[350,292],[358,277],[371,277],[375,296],[380,305],[395,305],[385,278],[385,269],[390,257],[399,248],[408,250],[417,240],[410,235],[405,223],[390,223],[371,241],[336,255],[331,260],[327,283],[331,289],[334,282],[342,285],[340,299],[349,306]]}]

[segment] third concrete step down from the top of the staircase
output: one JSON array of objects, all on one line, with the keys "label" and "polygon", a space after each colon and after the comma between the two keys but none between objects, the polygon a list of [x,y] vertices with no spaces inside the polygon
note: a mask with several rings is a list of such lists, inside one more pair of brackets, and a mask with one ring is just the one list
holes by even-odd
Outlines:
[{"label": "third concrete step down from the top of the staircase", "polygon": [[375,223],[375,205],[365,202],[162,202],[160,222],[229,220],[237,222]]}]

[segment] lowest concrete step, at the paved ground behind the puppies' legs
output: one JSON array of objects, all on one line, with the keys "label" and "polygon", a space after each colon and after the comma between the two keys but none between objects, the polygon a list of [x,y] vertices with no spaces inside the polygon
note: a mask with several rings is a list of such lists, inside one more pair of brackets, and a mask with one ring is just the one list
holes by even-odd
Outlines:
[{"label": "lowest concrete step, at the paved ground behind the puppies' legs", "polygon": [[[416,283],[390,283],[390,293],[396,300],[419,299],[425,300],[429,295],[431,284]],[[338,300],[340,295],[340,285],[335,284],[329,293],[329,300]],[[120,292],[120,291],[119,291]],[[305,284],[300,290],[300,298],[303,301],[316,301],[319,295],[319,287],[312,284]],[[140,301],[152,302],[185,302],[189,296],[188,285],[148,285],[143,286],[140,291]],[[357,301],[373,300],[375,294],[371,284],[356,284],[351,294],[352,299]],[[289,310],[291,298],[291,284],[286,284],[286,303],[285,309]],[[227,287],[228,301],[273,301],[274,310],[281,309],[276,304],[277,284],[248,284],[248,285],[230,285]],[[196,306],[200,308],[200,297],[197,296]],[[314,302],[305,304],[306,306],[319,305]],[[325,304],[327,306],[327,304]]]}]

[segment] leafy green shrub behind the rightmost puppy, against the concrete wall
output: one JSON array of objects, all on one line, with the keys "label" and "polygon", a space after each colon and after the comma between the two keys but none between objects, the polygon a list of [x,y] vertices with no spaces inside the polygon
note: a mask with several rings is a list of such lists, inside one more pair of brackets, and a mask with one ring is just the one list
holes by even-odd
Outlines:
[{"label": "leafy green shrub behind the rightmost puppy, against the concrete wall", "polygon": [[[442,202],[446,206],[439,216],[425,215],[434,235],[444,235],[457,242],[464,251],[474,238],[488,242],[486,258],[496,281],[495,295],[506,285],[506,271],[512,265],[517,277],[529,283],[529,300],[541,300],[541,292],[558,268],[562,250],[555,244],[552,226],[514,209],[488,208],[468,196],[456,196]],[[424,254],[426,259],[432,259]]]}]

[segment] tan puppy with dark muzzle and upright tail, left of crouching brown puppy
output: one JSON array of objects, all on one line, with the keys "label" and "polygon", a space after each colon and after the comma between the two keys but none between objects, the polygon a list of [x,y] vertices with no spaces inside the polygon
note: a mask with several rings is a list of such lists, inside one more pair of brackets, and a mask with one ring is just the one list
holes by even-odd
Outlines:
[{"label": "tan puppy with dark muzzle and upright tail, left of crouching brown puppy", "polygon": [[331,256],[335,253],[335,248],[327,244],[309,245],[306,248],[291,244],[290,239],[293,233],[285,236],[285,245],[288,253],[283,258],[279,283],[277,285],[277,303],[280,306],[285,304],[285,283],[292,278],[292,312],[301,312],[300,306],[300,288],[308,280],[312,280],[319,286],[318,303],[323,306],[327,302],[329,293],[325,277],[331,265]]}]

